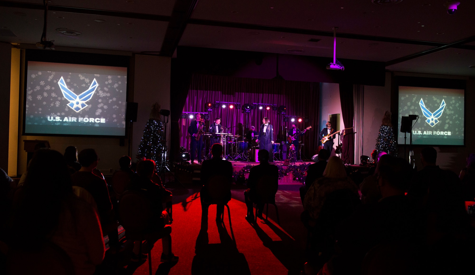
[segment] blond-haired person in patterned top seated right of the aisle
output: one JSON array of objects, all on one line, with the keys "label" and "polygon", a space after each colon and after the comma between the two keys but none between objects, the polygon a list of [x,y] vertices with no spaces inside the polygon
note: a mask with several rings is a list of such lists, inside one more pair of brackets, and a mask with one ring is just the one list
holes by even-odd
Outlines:
[{"label": "blond-haired person in patterned top seated right of the aisle", "polygon": [[304,210],[314,220],[318,219],[327,196],[337,190],[349,189],[358,194],[356,184],[346,175],[345,166],[338,156],[328,160],[323,177],[308,189],[304,198]]}]

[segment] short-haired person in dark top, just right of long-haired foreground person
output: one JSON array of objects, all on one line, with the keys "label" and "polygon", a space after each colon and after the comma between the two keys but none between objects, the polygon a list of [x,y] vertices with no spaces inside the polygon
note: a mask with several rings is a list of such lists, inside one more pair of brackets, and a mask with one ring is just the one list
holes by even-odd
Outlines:
[{"label": "short-haired person in dark top, just right of long-haired foreground person", "polygon": [[99,158],[94,149],[84,149],[78,155],[81,169],[71,175],[71,182],[74,186],[79,186],[88,191],[94,198],[97,211],[101,219],[101,226],[105,234],[109,236],[109,247],[111,252],[115,252],[119,247],[117,235],[117,221],[112,211],[112,202],[104,179],[92,173],[97,166]]}]

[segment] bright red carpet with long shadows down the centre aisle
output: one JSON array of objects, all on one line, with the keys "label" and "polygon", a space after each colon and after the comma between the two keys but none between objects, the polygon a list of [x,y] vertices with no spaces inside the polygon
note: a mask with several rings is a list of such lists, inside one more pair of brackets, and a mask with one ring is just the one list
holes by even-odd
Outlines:
[{"label": "bright red carpet with long shadows down the centre aisle", "polygon": [[[175,189],[175,192],[178,190]],[[186,189],[181,192],[186,192]],[[241,193],[240,190],[233,191],[233,197],[239,193]],[[231,209],[232,230],[229,227],[227,209],[225,208],[224,227],[218,228],[215,221],[216,205],[211,205],[208,232],[200,233],[199,193],[181,195],[181,197],[186,200],[183,199],[182,202],[173,205],[174,221],[171,225],[172,250],[180,256],[180,260],[174,266],[160,263],[161,240],[159,240],[152,250],[152,270],[155,274],[284,275],[289,274],[288,266],[301,265],[297,263],[299,256],[293,251],[295,247],[299,247],[295,245],[294,238],[270,218],[269,224],[263,224],[258,220],[256,229],[253,228],[244,219],[247,211],[245,203],[232,199],[228,204]],[[283,207],[285,204],[279,209],[281,220],[283,220],[282,213],[285,214]],[[269,208],[269,216],[275,217],[274,206],[271,205]],[[232,240],[233,236],[235,242]],[[294,274],[295,269],[290,273]],[[133,274],[149,274],[148,262],[144,262]]]}]

